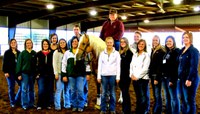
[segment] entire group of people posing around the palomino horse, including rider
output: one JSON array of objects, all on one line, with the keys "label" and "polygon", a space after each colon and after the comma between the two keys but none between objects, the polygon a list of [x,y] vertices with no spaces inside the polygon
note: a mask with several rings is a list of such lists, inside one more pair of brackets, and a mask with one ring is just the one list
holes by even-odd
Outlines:
[{"label": "entire group of people posing around the palomino horse, including rider", "polygon": [[[33,42],[26,39],[24,50],[17,49],[17,41],[11,39],[10,48],[3,58],[3,72],[9,86],[11,107],[21,104],[24,110],[35,107],[35,79],[38,83],[37,110],[43,108],[61,110],[63,107],[72,111],[83,112],[87,106],[88,84],[84,59],[75,61],[78,42],[81,34],[79,26],[74,27],[75,36],[67,43],[65,39],[58,41],[58,36],[52,34],[50,41],[41,42],[41,51],[33,50]],[[116,113],[116,83],[122,93],[122,113],[131,113],[131,98],[129,87],[132,81],[136,94],[136,113],[150,112],[149,82],[153,88],[154,114],[162,113],[162,93],[165,93],[166,113],[195,114],[196,91],[198,88],[198,50],[192,45],[191,32],[182,35],[181,50],[176,47],[175,38],[168,36],[165,46],[161,46],[159,36],[152,39],[151,55],[147,53],[147,44],[138,31],[134,34],[134,43],[129,44],[127,38],[122,38],[124,25],[117,20],[117,11],[109,11],[109,20],[103,24],[100,38],[106,43],[106,49],[98,59],[97,81],[102,86],[100,110],[105,114]],[[19,90],[14,93],[15,81]],[[54,81],[56,89],[54,94]],[[61,95],[63,93],[63,95]],[[181,102],[179,99],[181,97]],[[109,96],[109,101],[107,98]],[[107,103],[109,102],[109,109]],[[180,104],[181,107],[180,107]]]}]

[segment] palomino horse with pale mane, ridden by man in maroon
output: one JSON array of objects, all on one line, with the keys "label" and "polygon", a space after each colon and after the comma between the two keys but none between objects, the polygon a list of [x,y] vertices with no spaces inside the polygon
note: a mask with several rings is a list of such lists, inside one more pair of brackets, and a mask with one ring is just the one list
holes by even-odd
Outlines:
[{"label": "palomino horse with pale mane, ridden by man in maroon", "polygon": [[81,36],[79,44],[78,44],[78,50],[76,52],[76,59],[79,60],[84,57],[84,55],[87,55],[88,53],[91,53],[91,57],[89,59],[89,64],[91,71],[93,75],[96,77],[96,85],[97,85],[97,105],[96,108],[99,108],[100,103],[98,101],[100,100],[100,84],[97,82],[97,67],[98,67],[98,58],[100,53],[106,48],[105,42],[94,35],[87,35],[84,34]]}]

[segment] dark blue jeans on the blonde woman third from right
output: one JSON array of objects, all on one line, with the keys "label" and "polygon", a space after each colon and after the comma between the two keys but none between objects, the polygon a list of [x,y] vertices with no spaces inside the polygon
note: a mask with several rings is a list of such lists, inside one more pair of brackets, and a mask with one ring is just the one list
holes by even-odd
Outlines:
[{"label": "dark blue jeans on the blonde woman third from right", "polygon": [[161,114],[162,113],[162,93],[161,93],[161,85],[162,82],[158,81],[158,84],[154,84],[154,79],[151,79],[151,85],[153,89],[153,97],[154,97],[154,107],[153,114]]}]

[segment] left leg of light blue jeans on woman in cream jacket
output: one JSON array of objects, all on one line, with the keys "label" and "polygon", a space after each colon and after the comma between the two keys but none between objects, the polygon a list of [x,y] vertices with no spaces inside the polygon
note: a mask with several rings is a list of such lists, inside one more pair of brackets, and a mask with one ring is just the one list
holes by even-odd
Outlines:
[{"label": "left leg of light blue jeans on woman in cream jacket", "polygon": [[[58,80],[56,81],[56,91],[54,97],[54,105],[55,109],[61,109],[61,93],[63,92],[64,83],[61,80],[61,75],[58,75]],[[64,92],[63,92],[63,99],[64,99]]]}]

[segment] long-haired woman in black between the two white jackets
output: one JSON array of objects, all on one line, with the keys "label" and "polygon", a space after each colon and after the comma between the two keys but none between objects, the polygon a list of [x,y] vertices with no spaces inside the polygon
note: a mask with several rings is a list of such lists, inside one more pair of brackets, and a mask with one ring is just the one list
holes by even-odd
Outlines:
[{"label": "long-haired woman in black between the two white jackets", "polygon": [[120,39],[119,53],[121,56],[121,74],[119,87],[122,91],[122,111],[124,114],[131,113],[131,100],[129,94],[129,87],[131,78],[129,77],[130,63],[132,60],[133,53],[129,49],[129,43],[127,38]]}]

